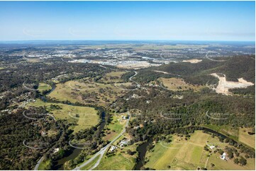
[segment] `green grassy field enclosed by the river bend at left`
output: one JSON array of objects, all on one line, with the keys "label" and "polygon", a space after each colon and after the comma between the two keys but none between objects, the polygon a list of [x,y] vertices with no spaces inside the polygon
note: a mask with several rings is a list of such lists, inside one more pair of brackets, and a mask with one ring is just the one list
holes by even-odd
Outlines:
[{"label": "green grassy field enclosed by the river bend at left", "polygon": [[[61,109],[55,109],[52,105],[57,105]],[[74,124],[69,127],[74,132],[87,129],[99,123],[99,115],[97,115],[97,111],[93,107],[78,107],[62,103],[43,102],[41,100],[30,102],[27,107],[29,106],[46,107],[56,119],[65,119],[67,122]]]}]

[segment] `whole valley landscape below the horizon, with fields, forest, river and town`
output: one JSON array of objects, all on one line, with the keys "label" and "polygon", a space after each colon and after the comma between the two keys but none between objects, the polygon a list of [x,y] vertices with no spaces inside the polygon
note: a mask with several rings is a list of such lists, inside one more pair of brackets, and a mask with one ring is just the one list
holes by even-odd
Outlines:
[{"label": "whole valley landscape below the horizon, with fields, forest, river and town", "polygon": [[138,44],[1,51],[1,169],[255,170],[255,52]]}]

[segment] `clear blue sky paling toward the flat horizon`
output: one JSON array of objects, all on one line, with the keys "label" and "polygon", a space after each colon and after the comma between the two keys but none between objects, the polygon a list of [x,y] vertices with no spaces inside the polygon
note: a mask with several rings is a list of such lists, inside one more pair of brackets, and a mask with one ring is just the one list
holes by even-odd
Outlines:
[{"label": "clear blue sky paling toward the flat horizon", "polygon": [[255,1],[0,1],[0,41],[255,41]]}]

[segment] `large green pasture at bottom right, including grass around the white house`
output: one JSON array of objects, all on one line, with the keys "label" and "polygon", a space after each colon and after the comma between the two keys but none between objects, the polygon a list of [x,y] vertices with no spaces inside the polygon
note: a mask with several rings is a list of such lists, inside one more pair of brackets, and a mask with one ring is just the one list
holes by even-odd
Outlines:
[{"label": "large green pasture at bottom right, including grass around the white house", "polygon": [[[205,166],[208,170],[253,170],[255,168],[255,159],[247,159],[247,165],[242,167],[235,165],[233,159],[221,160],[219,153],[210,155],[208,151],[204,151],[206,145],[214,145],[218,148],[229,146],[228,143],[221,143],[217,137],[211,137],[202,131],[195,131],[187,141],[184,137],[174,134],[171,143],[157,142],[155,147],[147,152],[148,162],[145,167],[155,170],[196,170],[197,167]],[[211,163],[215,166],[211,167]]]}]

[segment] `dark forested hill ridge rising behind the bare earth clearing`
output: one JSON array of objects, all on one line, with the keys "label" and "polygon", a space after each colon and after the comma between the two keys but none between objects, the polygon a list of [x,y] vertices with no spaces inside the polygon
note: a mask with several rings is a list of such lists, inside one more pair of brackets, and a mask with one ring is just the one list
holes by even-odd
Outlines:
[{"label": "dark forested hill ridge rising behind the bare earth clearing", "polygon": [[[238,78],[244,78],[246,81],[255,83],[255,56],[214,59],[220,61],[203,59],[203,61],[196,64],[190,64],[188,62],[172,63],[160,66],[160,70],[168,73],[177,73],[186,77],[223,73],[226,74],[227,81],[238,81]],[[226,61],[221,61],[223,59]]]}]

